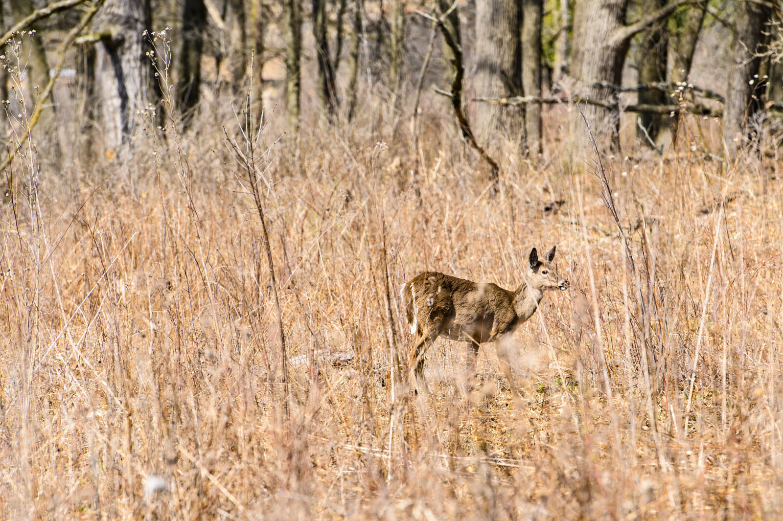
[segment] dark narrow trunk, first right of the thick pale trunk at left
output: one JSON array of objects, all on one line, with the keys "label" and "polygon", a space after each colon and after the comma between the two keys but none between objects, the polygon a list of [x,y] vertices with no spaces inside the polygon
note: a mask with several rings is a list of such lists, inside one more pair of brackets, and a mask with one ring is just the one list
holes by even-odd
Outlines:
[{"label": "dark narrow trunk, first right of the thick pale trunk at left", "polygon": [[204,28],[207,8],[204,0],[185,0],[182,9],[182,49],[179,53],[179,107],[182,124],[188,128],[198,104],[201,88],[201,50],[204,48]]}]

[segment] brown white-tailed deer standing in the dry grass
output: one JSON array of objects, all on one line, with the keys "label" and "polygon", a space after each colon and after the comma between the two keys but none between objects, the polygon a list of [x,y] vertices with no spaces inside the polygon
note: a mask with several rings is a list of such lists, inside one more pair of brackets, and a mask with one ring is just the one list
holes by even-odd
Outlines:
[{"label": "brown white-tailed deer standing in the dry grass", "polygon": [[[536,248],[530,250],[523,281],[516,291],[491,283],[477,284],[438,271],[424,271],[403,284],[400,289],[402,305],[410,332],[416,335],[409,361],[410,367],[416,368],[417,380],[424,375],[424,352],[438,336],[469,343],[471,371],[474,371],[478,347],[482,343],[496,342],[513,334],[536,312],[545,289],[568,289],[570,284],[557,275],[552,264],[554,251],[553,247],[542,262]],[[500,343],[496,343],[496,347],[500,368],[517,399],[507,354],[500,349]]]}]

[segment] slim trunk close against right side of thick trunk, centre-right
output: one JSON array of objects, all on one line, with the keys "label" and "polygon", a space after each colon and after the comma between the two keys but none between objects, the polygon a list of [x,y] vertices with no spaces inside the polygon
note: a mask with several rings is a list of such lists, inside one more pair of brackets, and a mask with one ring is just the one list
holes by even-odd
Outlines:
[{"label": "slim trunk close against right side of thick trunk, centre-right", "polygon": [[[525,96],[541,97],[541,16],[542,0],[522,0],[522,90]],[[525,109],[527,151],[535,157],[541,153],[541,105],[532,103]]]}]

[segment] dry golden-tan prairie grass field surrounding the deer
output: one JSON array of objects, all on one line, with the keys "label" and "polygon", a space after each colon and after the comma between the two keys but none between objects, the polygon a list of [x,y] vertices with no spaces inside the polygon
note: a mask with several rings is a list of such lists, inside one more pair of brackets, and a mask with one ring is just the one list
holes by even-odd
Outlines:
[{"label": "dry golden-tan prairie grass field surrounding the deer", "polygon": [[[618,227],[554,110],[543,163],[507,161],[495,192],[446,108],[414,149],[379,107],[298,140],[272,115],[255,166],[274,282],[225,109],[124,163],[14,160],[2,516],[778,518],[777,158],[722,164],[695,121],[678,154],[606,156]],[[554,245],[572,289],[507,346],[522,407],[492,344],[471,380],[464,343],[438,340],[414,394],[400,285],[513,288]]]}]

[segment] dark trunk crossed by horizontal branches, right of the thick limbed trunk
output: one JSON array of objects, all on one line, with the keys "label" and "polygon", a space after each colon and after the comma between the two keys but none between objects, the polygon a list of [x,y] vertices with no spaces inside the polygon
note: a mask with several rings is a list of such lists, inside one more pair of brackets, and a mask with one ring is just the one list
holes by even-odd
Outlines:
[{"label": "dark trunk crossed by horizontal branches, right of the thick limbed trunk", "polygon": [[[655,7],[662,7],[666,0],[656,0]],[[645,4],[646,5],[646,4]],[[653,24],[642,34],[639,49],[639,83],[650,84],[666,81],[666,58],[669,48],[669,34],[666,20]],[[640,105],[660,106],[669,104],[669,96],[659,89],[639,91]],[[665,114],[640,113],[637,136],[648,146],[655,146],[659,132],[667,128],[669,116]]]}]

